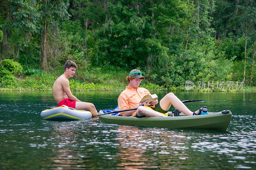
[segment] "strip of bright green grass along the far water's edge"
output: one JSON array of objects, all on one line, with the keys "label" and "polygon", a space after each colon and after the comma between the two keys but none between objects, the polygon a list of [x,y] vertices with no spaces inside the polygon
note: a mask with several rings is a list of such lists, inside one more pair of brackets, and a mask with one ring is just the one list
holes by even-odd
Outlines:
[{"label": "strip of bright green grass along the far water's edge", "polygon": [[[70,89],[72,91],[122,91],[127,86],[125,77],[127,76],[127,70],[119,70],[116,68],[94,68],[85,74],[84,79],[76,75],[74,78],[69,78]],[[12,74],[7,74],[2,78],[0,84],[1,91],[12,90],[25,90],[25,91],[51,91],[54,81],[61,75],[50,74],[41,71],[35,71],[33,74],[24,77],[16,78]],[[81,75],[81,74],[80,74]],[[140,87],[144,87],[148,90],[160,90],[160,91],[188,91],[185,86],[168,87],[159,86],[147,80],[141,81]],[[243,89],[198,89],[195,86],[189,91],[256,91],[256,87],[244,86]]]}]

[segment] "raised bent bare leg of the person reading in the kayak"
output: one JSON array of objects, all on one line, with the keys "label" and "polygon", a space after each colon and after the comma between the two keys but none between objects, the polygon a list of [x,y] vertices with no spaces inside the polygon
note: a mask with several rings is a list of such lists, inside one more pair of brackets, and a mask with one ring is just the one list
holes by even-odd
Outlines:
[{"label": "raised bent bare leg of the person reading in the kayak", "polygon": [[[179,111],[185,113],[187,116],[191,116],[193,115],[193,112],[190,111],[187,106],[185,106],[184,103],[182,103],[180,101],[180,99],[175,96],[173,93],[168,93],[167,95],[165,95],[159,102],[161,108],[163,110],[169,110],[170,107],[171,107],[171,104],[176,108],[178,109]],[[196,114],[199,113],[199,110],[197,110],[195,112]]]}]

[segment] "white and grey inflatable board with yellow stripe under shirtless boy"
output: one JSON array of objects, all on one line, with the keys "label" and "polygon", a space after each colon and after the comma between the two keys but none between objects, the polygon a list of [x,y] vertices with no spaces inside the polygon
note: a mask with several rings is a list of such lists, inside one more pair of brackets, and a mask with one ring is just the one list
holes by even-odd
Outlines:
[{"label": "white and grey inflatable board with yellow stripe under shirtless boy", "polygon": [[40,116],[44,120],[83,120],[91,118],[92,113],[88,110],[76,110],[62,105],[60,107],[43,110]]}]

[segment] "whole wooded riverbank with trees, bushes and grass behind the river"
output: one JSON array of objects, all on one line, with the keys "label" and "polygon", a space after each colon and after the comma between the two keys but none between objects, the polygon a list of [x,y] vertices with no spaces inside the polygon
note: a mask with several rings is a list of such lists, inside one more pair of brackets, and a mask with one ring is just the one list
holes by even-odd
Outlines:
[{"label": "whole wooded riverbank with trees, bushes and grass behind the river", "polygon": [[[184,91],[189,80],[194,91],[255,91],[255,6],[252,0],[5,0],[0,90],[51,90],[73,60],[72,90],[123,90],[137,68],[146,74],[141,87],[150,90]],[[207,86],[213,82],[217,88]]]}]

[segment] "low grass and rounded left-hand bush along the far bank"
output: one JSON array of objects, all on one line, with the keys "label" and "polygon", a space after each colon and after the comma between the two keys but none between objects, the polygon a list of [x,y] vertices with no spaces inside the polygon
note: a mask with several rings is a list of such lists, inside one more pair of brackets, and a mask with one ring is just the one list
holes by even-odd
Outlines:
[{"label": "low grass and rounded left-hand bush along the far bank", "polygon": [[[80,68],[80,67],[79,67]],[[138,68],[140,69],[140,68]],[[51,91],[54,81],[63,74],[64,70],[50,70],[51,73],[42,72],[38,69],[26,69],[23,71],[20,63],[13,61],[12,59],[6,59],[1,61],[0,65],[0,90],[27,90],[27,91]],[[76,91],[122,91],[127,86],[126,76],[130,70],[120,69],[118,67],[91,67],[77,69],[73,78],[69,79],[70,89]],[[154,79],[153,79],[154,80]],[[150,75],[145,75],[145,80],[141,81],[140,87],[144,87],[148,90],[161,90],[161,91],[187,91],[181,80],[180,85],[165,85],[159,86],[155,84]],[[149,82],[151,81],[151,82]],[[204,84],[203,87],[207,87],[206,81],[200,81]],[[204,83],[203,83],[204,82]],[[238,87],[238,81],[220,81],[219,87],[230,87],[235,85]],[[223,83],[224,82],[224,83]],[[229,83],[229,84],[228,84]],[[197,83],[200,85],[200,83]],[[213,81],[211,85],[215,84]],[[166,87],[169,86],[169,87]],[[209,86],[209,85],[208,85]],[[214,85],[213,85],[214,86]],[[212,86],[212,87],[213,87]],[[218,86],[218,85],[217,85]],[[191,86],[190,86],[191,87]],[[215,87],[215,86],[214,86]],[[222,89],[210,89],[199,88],[195,86],[190,91],[256,91],[256,87],[245,86],[241,88],[222,88]]]}]

